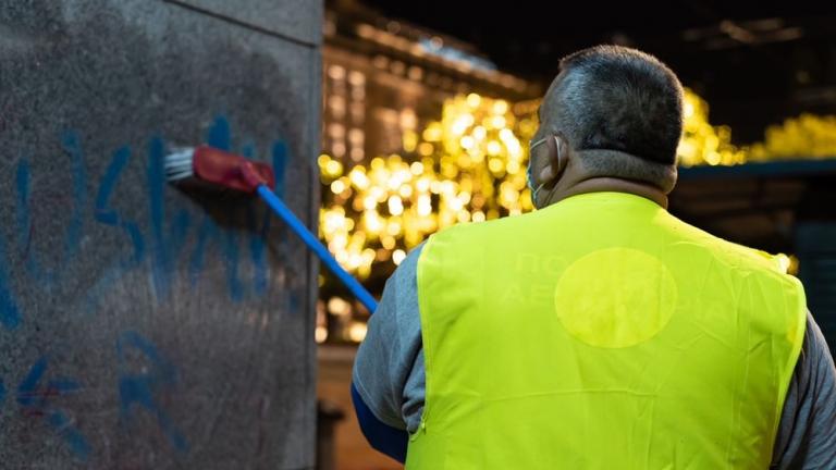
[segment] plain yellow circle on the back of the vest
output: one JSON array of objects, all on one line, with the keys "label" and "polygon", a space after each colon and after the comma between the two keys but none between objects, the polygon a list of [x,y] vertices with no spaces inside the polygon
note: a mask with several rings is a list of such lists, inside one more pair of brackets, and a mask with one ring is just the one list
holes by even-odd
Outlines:
[{"label": "plain yellow circle on the back of the vest", "polygon": [[564,271],[554,306],[575,338],[623,348],[662,331],[674,313],[676,297],[676,281],[657,258],[631,248],[606,248]]}]

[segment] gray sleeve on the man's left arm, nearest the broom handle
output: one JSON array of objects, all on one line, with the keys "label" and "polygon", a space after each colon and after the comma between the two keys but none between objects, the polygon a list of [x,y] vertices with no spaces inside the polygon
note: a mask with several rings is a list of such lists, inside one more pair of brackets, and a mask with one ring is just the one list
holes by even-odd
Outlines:
[{"label": "gray sleeve on the man's left arm, nearest the broom handle", "polygon": [[352,373],[354,386],[374,417],[409,432],[418,429],[423,410],[423,350],[417,285],[422,246],[416,247],[386,281]]}]

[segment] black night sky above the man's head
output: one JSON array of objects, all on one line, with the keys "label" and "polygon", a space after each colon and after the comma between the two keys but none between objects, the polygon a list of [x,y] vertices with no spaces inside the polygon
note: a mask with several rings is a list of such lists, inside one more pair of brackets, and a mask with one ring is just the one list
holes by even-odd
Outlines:
[{"label": "black night sky above the man's head", "polygon": [[706,98],[712,123],[732,125],[738,143],[803,111],[836,114],[834,1],[362,3],[471,42],[501,69],[542,82],[577,49],[637,47]]}]

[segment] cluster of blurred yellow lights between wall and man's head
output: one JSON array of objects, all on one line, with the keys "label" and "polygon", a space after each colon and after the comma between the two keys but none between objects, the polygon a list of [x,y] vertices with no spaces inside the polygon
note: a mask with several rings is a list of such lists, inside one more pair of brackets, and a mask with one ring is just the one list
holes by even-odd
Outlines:
[{"label": "cluster of blurred yellow lights between wall and man's head", "polygon": [[337,159],[320,156],[329,188],[320,236],[337,261],[362,279],[374,263],[399,263],[440,228],[531,210],[522,143],[537,129],[536,109],[517,115],[519,107],[505,100],[458,96],[444,104],[440,121],[404,134],[403,157],[346,170]]}]

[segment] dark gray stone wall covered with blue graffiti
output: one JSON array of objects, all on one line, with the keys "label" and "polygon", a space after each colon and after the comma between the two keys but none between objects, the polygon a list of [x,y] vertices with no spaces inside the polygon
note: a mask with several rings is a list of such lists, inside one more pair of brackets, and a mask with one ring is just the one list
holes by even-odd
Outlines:
[{"label": "dark gray stone wall covered with blue graffiti", "polygon": [[270,162],[314,226],[320,50],[283,37],[318,38],[322,5],[189,2],[225,10],[0,3],[3,469],[314,466],[317,265],[161,158]]}]

